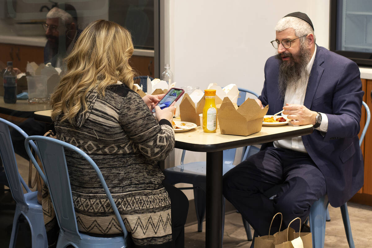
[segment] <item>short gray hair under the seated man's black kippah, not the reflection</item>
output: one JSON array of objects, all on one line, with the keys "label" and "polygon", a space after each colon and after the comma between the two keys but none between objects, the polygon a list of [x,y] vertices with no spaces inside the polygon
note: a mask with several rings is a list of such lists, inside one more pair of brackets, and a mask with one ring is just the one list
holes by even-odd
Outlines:
[{"label": "short gray hair under the seated man's black kippah, not the reflection", "polygon": [[[311,28],[310,24],[297,17],[293,17],[293,16],[283,17],[276,24],[275,31],[282,32],[283,30],[287,28],[293,28],[295,30],[295,35],[297,37],[308,35],[309,33],[314,35],[314,30]],[[305,39],[306,37],[300,38],[301,42],[305,41]],[[314,35],[314,42],[315,40],[316,38]]]}]

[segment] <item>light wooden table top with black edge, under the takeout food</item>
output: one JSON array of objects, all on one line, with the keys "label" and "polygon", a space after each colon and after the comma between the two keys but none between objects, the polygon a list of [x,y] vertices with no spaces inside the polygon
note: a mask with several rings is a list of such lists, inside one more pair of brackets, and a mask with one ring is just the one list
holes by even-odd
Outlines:
[{"label": "light wooden table top with black edge, under the takeout food", "polygon": [[[51,110],[34,113],[36,120],[51,121]],[[176,119],[179,120],[179,119]],[[241,146],[262,144],[284,138],[291,138],[312,133],[312,125],[303,126],[262,126],[260,132],[248,136],[221,134],[219,128],[215,133],[205,133],[201,126],[187,132],[175,133],[176,148],[197,152],[213,152]]]}]

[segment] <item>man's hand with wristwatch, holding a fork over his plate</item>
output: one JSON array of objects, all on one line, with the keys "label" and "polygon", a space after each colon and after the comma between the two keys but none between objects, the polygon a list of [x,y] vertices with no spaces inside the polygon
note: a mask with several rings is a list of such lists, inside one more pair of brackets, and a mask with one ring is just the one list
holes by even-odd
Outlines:
[{"label": "man's hand with wristwatch, holding a fork over his plate", "polygon": [[283,107],[284,115],[288,115],[287,119],[291,119],[293,125],[307,125],[315,124],[315,118],[317,117],[317,112],[311,111],[304,105],[300,104],[289,104]]}]

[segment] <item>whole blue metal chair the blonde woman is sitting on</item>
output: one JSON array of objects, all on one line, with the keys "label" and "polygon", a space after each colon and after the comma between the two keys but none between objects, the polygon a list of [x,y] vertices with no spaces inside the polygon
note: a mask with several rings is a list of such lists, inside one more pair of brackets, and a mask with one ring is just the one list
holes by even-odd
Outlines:
[{"label": "whole blue metal chair the blonde woman is sitting on", "polygon": [[[32,156],[29,141],[36,141],[36,146],[39,151],[39,158],[45,171],[42,173],[41,168],[37,165],[35,158]],[[32,162],[35,164],[40,176],[47,184],[51,196],[52,204],[56,213],[58,225],[60,227],[60,234],[58,236],[57,248],[65,248],[72,245],[76,248],[125,248],[127,246],[128,232],[124,226],[124,222],[120,216],[118,208],[112,199],[110,191],[102,177],[101,171],[96,163],[85,152],[81,151],[76,146],[70,145],[58,139],[49,138],[45,136],[29,136],[25,140],[26,151],[30,156]],[[123,230],[122,235],[103,238],[90,236],[80,233],[77,228],[76,215],[74,211],[74,203],[72,199],[70,178],[68,176],[67,164],[65,159],[64,149],[80,154],[85,158],[96,171],[99,180],[106,192],[106,195],[111,203],[111,206],[118,219],[119,225]]]}]

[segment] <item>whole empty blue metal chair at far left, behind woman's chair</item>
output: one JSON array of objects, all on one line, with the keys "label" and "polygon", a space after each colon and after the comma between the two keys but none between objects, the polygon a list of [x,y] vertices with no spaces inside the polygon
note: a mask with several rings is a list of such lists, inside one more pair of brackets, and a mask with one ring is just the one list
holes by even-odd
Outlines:
[{"label": "whole empty blue metal chair at far left, behind woman's chair", "polygon": [[[31,243],[33,248],[48,247],[47,232],[44,226],[44,216],[41,205],[38,203],[38,191],[31,191],[18,172],[12,139],[10,138],[9,127],[17,130],[25,138],[28,135],[17,125],[0,118],[0,155],[6,178],[13,199],[16,201],[16,210],[13,219],[12,235],[10,236],[9,248],[15,247],[21,215],[27,220],[31,229]],[[35,144],[31,144],[36,151]],[[22,186],[26,193],[23,194]]]}]

